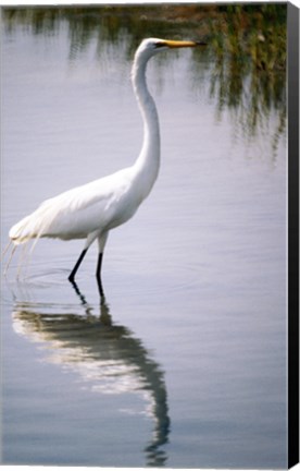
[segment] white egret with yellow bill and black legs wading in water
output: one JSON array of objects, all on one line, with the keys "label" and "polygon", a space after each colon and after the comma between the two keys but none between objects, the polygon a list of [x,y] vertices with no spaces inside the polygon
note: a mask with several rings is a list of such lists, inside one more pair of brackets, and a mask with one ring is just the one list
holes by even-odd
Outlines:
[{"label": "white egret with yellow bill and black legs wading in water", "polygon": [[147,63],[158,52],[199,44],[158,38],[141,41],[132,67],[133,88],[143,121],[143,141],[138,158],[130,167],[41,203],[34,213],[10,229],[9,237],[14,245],[12,255],[16,245],[26,244],[32,239],[85,239],[84,249],[68,276],[68,280],[75,283],[79,265],[97,240],[99,252],[96,277],[100,294],[103,293],[101,267],[109,232],[134,216],[149,195],[160,168],[159,116],[147,87]]}]

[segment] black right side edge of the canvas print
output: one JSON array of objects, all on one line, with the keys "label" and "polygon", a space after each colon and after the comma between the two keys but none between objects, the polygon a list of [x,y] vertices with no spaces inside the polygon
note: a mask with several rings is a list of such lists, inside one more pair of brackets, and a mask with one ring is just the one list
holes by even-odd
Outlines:
[{"label": "black right side edge of the canvas print", "polygon": [[288,468],[299,462],[299,9],[288,3]]}]

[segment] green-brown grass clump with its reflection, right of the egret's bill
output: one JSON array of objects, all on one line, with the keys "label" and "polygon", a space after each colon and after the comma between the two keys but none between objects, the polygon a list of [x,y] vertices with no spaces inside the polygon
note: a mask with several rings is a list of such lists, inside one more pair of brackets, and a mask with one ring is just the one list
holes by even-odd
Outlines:
[{"label": "green-brown grass clump with its reflection, right of the egret's bill", "polygon": [[218,98],[220,112],[224,107],[233,108],[250,134],[275,110],[275,149],[286,123],[286,4],[220,9],[222,16],[211,21],[216,56],[211,94]]}]

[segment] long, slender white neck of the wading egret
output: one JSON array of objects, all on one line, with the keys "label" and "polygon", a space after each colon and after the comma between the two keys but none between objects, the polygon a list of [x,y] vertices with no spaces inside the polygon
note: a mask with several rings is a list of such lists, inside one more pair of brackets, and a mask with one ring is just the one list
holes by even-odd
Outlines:
[{"label": "long, slender white neck of the wading egret", "polygon": [[[140,58],[141,59],[141,58]],[[146,197],[158,177],[160,168],[160,125],[155,102],[146,83],[147,62],[136,57],[132,71],[133,86],[143,121],[143,142],[135,169]]]}]

